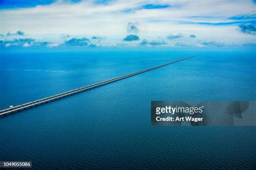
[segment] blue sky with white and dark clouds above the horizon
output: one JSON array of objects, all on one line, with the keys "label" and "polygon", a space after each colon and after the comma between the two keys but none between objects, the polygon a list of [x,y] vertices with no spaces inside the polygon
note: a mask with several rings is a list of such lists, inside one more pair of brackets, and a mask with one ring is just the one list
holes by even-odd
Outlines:
[{"label": "blue sky with white and dark clouds above the horizon", "polygon": [[255,46],[256,0],[1,0],[1,47]]}]

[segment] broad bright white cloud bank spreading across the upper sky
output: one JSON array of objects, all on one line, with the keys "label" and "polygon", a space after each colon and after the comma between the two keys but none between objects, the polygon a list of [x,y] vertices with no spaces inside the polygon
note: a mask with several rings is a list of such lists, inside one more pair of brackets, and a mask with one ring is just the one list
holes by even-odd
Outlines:
[{"label": "broad bright white cloud bank spreading across the upper sky", "polygon": [[[170,8],[139,9],[143,4],[168,4]],[[239,10],[238,10],[239,9]],[[255,4],[246,1],[111,1],[95,4],[93,1],[70,3],[57,1],[35,8],[1,10],[1,33],[25,31],[30,37],[52,39],[52,34],[72,37],[107,37],[117,44],[127,36],[127,24],[139,23],[141,39],[156,39],[169,34],[196,34],[206,41],[252,42],[254,37],[239,32],[235,25],[183,24],[181,22],[233,22],[232,16],[255,13]],[[60,38],[56,38],[60,43]],[[183,38],[184,40],[184,38]],[[191,40],[191,39],[190,39]]]}]

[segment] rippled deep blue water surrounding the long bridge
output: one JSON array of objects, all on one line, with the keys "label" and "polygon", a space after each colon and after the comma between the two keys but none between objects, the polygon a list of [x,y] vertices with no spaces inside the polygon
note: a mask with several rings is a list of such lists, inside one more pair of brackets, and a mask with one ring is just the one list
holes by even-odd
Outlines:
[{"label": "rippled deep blue water surrounding the long bridge", "polygon": [[[200,52],[3,52],[0,109]],[[150,102],[255,101],[255,65],[255,51],[210,51],[1,117],[0,160],[60,169],[253,169],[255,127],[155,127]]]}]

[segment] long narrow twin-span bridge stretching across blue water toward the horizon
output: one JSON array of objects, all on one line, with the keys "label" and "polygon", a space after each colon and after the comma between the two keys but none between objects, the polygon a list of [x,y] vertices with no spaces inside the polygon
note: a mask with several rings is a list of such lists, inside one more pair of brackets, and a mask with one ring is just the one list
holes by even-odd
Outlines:
[{"label": "long narrow twin-span bridge stretching across blue water toward the horizon", "polygon": [[201,54],[203,54],[203,53],[200,53],[200,54],[197,54],[197,55],[193,55],[193,56],[188,56],[187,58],[183,58],[183,59],[179,59],[179,60],[176,60],[176,61],[164,63],[163,65],[147,68],[147,69],[144,69],[144,70],[140,70],[139,72],[134,72],[134,73],[131,73],[131,74],[126,74],[126,75],[119,76],[119,77],[116,77],[116,78],[113,78],[113,79],[110,79],[110,80],[102,81],[102,82],[99,82],[99,83],[96,83],[96,84],[91,84],[89,86],[80,87],[78,89],[66,91],[64,93],[60,93],[60,94],[53,95],[53,96],[50,96],[50,97],[45,97],[45,98],[42,98],[42,99],[39,99],[39,100],[36,100],[36,101],[32,101],[32,102],[29,102],[29,103],[17,105],[17,106],[12,107],[12,108],[7,108],[7,109],[4,109],[4,110],[0,111],[0,116],[5,116],[7,114],[12,114],[14,112],[19,112],[19,111],[26,110],[26,109],[29,109],[29,108],[32,108],[32,107],[36,107],[36,106],[44,104],[44,103],[49,103],[49,102],[58,100],[60,98],[64,98],[64,97],[67,97],[67,96],[70,96],[70,95],[81,93],[81,92],[86,91],[86,90],[90,90],[90,89],[93,89],[93,88],[96,88],[96,87],[99,87],[99,86],[103,86],[103,85],[108,84],[108,83],[112,83],[112,82],[115,82],[115,81],[118,81],[118,80],[125,79],[127,77],[131,77],[131,76],[134,76],[134,75],[137,75],[137,74],[148,72],[148,71],[150,71],[152,69],[157,69],[159,67],[164,67],[164,66],[167,66],[167,65],[171,65],[172,63],[176,63],[176,62],[180,62],[180,61],[183,61],[183,60],[187,60],[187,59],[190,59],[190,58],[192,58],[194,56],[198,56],[198,55],[201,55]]}]

